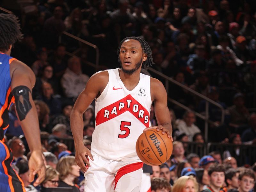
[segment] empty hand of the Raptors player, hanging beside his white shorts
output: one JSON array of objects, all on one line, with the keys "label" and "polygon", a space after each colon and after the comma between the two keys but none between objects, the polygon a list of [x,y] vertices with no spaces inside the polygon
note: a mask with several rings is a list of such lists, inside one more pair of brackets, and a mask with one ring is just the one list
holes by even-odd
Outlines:
[{"label": "empty hand of the Raptors player, hanging beside his white shorts", "polygon": [[76,164],[82,169],[83,172],[87,171],[86,165],[88,165],[88,167],[91,166],[88,160],[88,156],[93,161],[92,153],[88,148],[86,148],[84,145],[76,148]]}]

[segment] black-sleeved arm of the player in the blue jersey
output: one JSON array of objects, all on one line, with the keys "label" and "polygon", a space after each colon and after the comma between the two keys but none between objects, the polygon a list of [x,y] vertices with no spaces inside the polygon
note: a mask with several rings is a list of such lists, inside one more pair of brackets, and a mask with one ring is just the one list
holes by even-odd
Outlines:
[{"label": "black-sleeved arm of the player in the blue jersey", "polygon": [[31,157],[28,162],[30,169],[29,180],[32,182],[35,174],[38,173],[38,179],[34,183],[36,186],[44,180],[45,166],[42,158],[38,116],[31,94],[35,84],[35,75],[27,65],[17,60],[12,61],[10,74],[16,113],[31,151]]}]

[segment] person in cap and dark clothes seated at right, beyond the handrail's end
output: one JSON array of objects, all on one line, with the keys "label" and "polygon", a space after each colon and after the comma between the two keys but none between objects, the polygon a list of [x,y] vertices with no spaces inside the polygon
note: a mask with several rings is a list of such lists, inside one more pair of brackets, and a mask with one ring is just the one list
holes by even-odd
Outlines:
[{"label": "person in cap and dark clothes seated at right, beyond the handrail's end", "polygon": [[228,108],[230,114],[230,132],[241,133],[244,129],[248,128],[248,120],[250,113],[245,107],[244,94],[241,92],[233,96],[233,104]]}]

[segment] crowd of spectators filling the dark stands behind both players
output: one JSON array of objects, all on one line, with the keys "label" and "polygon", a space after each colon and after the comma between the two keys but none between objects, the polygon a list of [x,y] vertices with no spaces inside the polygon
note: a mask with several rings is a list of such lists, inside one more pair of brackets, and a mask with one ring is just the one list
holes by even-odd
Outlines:
[{"label": "crowd of spectators filling the dark stands behind both players", "polygon": [[[70,113],[92,74],[120,66],[116,49],[127,36],[140,36],[149,43],[155,63],[150,67],[225,109],[222,123],[220,108],[209,103],[211,122],[204,138],[205,123],[196,113],[205,115],[206,101],[176,84],[169,85],[169,97],[190,111],[168,103],[173,153],[165,164],[152,166],[151,191],[256,191],[256,164],[250,159],[255,148],[240,148],[256,144],[256,1],[34,0],[25,4],[0,0],[0,6],[20,18],[24,34],[11,56],[36,75],[32,96],[47,166],[41,186],[28,182],[30,154],[14,106],[6,133],[14,156],[12,166],[27,191],[58,186],[83,191],[83,172],[76,165],[73,148],[65,144],[72,139]],[[95,63],[95,52],[62,35],[63,31],[98,46],[97,69],[90,65]],[[143,73],[164,83],[150,70]],[[83,119],[84,145],[90,149],[94,103]],[[154,107],[150,122],[157,124]],[[196,154],[204,149],[205,139],[233,147]],[[190,142],[196,142],[192,149]]]}]

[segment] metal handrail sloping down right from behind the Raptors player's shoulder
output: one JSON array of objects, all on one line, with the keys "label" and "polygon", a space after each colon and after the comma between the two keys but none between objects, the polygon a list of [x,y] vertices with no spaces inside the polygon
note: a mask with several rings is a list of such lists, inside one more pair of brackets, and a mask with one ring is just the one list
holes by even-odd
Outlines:
[{"label": "metal handrail sloping down right from behind the Raptors player's shoulder", "polygon": [[[212,103],[213,105],[215,105],[215,106],[217,106],[218,108],[221,109],[221,124],[224,123],[224,116],[225,116],[224,108],[219,103],[217,103],[217,102],[209,99],[208,97],[196,92],[195,90],[181,84],[180,82],[175,81],[171,77],[168,77],[168,76],[162,74],[161,72],[159,72],[159,71],[157,71],[157,70],[155,70],[151,67],[149,67],[148,70],[157,74],[158,76],[163,77],[165,79],[165,89],[166,89],[166,92],[167,92],[167,96],[169,95],[169,82],[171,82],[171,83],[182,87],[183,89],[187,90],[188,92],[190,92],[190,93],[192,93],[192,94],[194,94],[194,95],[196,95],[196,96],[198,96],[198,97],[200,97],[200,98],[202,98],[206,101],[206,103],[205,103],[205,116],[203,116],[202,114],[197,113],[197,112],[195,112],[195,115],[204,120],[204,137],[205,137],[205,141],[207,142],[207,140],[208,140],[208,122],[212,123],[214,125],[217,125],[214,122],[212,122],[211,120],[209,120],[209,103]],[[181,104],[178,101],[175,101],[175,100],[169,98],[169,96],[168,96],[168,101],[174,103],[175,105],[178,105],[181,108],[184,108],[185,110],[191,111],[190,108],[184,106],[183,104]]]}]

